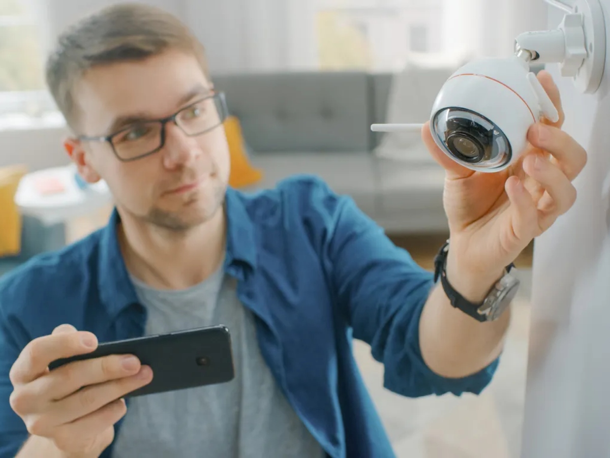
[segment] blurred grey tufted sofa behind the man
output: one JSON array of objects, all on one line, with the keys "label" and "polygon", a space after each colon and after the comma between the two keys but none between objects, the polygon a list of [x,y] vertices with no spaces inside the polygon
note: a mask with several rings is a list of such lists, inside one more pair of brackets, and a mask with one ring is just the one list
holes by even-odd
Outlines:
[{"label": "blurred grey tufted sofa behind the man", "polygon": [[[313,173],[352,196],[389,233],[447,231],[442,168],[375,154],[382,134],[370,125],[386,120],[392,74],[224,74],[213,82],[240,120],[253,164],[264,170],[254,188]],[[414,148],[425,147],[418,141]]]}]

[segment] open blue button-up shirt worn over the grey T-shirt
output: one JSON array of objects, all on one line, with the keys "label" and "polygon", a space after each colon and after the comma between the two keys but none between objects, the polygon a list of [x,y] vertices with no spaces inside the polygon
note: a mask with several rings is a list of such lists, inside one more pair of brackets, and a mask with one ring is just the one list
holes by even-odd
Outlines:
[{"label": "open blue button-up shirt worn over the grey T-shirt", "polygon": [[[298,176],[251,195],[229,188],[226,213],[224,270],[256,317],[276,381],[328,456],[394,456],[354,360],[353,338],[371,346],[384,364],[384,386],[400,395],[479,393],[489,383],[498,360],[462,379],[426,367],[418,322],[432,274],[351,198],[317,177]],[[114,212],[107,227],[2,278],[2,458],[14,456],[27,438],[9,405],[9,370],[30,340],[62,323],[91,331],[100,342],[143,335],[146,310],[123,263],[117,223]],[[111,454],[112,445],[102,457]]]}]

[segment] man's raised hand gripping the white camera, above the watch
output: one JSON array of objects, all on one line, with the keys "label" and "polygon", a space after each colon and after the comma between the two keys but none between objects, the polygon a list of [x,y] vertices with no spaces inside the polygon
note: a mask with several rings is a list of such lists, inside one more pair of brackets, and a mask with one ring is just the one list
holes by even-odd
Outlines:
[{"label": "man's raised hand gripping the white camera, above the watch", "polygon": [[573,206],[573,179],[587,154],[561,130],[564,112],[558,87],[546,71],[538,79],[559,112],[559,121],[529,129],[526,151],[497,173],[475,172],[435,145],[428,123],[423,140],[446,170],[443,204],[450,226],[447,277],[462,295],[482,300],[506,265]]}]

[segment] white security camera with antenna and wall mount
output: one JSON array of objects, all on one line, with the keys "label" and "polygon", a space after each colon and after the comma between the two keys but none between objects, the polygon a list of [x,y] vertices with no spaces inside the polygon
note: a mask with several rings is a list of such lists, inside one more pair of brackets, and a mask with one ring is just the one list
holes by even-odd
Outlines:
[{"label": "white security camera with antenna and wall mount", "polygon": [[[556,0],[548,2],[558,6]],[[556,107],[530,71],[531,62],[561,63],[562,76],[573,77],[582,92],[597,90],[606,43],[601,5],[599,0],[578,0],[573,8],[558,29],[519,35],[513,56],[474,60],[443,84],[432,106],[430,130],[447,156],[471,170],[498,172],[525,150],[529,127],[543,117],[553,123],[559,120]],[[371,130],[422,127],[373,124]]]}]

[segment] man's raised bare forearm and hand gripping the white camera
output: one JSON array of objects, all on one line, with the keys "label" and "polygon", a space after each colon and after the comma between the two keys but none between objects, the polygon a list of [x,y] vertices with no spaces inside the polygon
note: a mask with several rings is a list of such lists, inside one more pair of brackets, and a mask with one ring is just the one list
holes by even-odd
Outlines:
[{"label": "man's raised bare forearm and hand gripping the white camera", "polygon": [[[426,146],[446,171],[443,205],[450,228],[446,279],[473,307],[487,304],[505,268],[576,199],[572,180],[583,170],[587,155],[561,131],[564,113],[550,74],[542,71],[538,79],[558,109],[559,120],[531,126],[526,150],[504,170],[470,170],[437,147],[428,123],[422,130]],[[499,315],[480,323],[452,307],[439,282],[419,326],[420,348],[428,366],[443,376],[464,377],[497,359],[510,313],[504,309],[506,302],[496,304],[501,304],[494,313]]]}]

